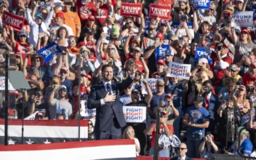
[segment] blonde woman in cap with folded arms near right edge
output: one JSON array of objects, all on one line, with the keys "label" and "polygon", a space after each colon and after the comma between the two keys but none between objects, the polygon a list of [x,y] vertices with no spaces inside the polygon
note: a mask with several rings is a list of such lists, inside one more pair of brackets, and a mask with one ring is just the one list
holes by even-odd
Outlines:
[{"label": "blonde woman in cap with folded arms near right edge", "polygon": [[241,114],[244,115],[248,113],[250,109],[249,100],[247,100],[247,89],[244,85],[239,87],[236,95],[236,105],[240,108]]}]

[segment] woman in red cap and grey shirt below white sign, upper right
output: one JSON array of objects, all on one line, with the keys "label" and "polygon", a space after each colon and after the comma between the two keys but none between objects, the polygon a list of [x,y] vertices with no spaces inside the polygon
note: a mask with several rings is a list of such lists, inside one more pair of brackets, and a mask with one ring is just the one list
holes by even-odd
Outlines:
[{"label": "woman in red cap and grey shirt below white sign, upper right", "polygon": [[233,63],[239,63],[243,57],[248,57],[249,52],[252,52],[255,44],[247,29],[242,29],[239,37],[234,35],[235,55],[233,56]]}]

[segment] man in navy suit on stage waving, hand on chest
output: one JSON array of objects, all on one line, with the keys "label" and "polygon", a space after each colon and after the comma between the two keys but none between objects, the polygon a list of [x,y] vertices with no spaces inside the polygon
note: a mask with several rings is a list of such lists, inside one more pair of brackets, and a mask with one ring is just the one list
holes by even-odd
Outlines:
[{"label": "man in navy suit on stage waving, hand on chest", "polygon": [[119,100],[120,92],[130,84],[135,77],[137,65],[134,65],[127,79],[121,83],[113,82],[112,65],[101,68],[103,81],[91,88],[87,107],[96,108],[95,140],[121,139],[121,127],[126,125],[123,104]]}]

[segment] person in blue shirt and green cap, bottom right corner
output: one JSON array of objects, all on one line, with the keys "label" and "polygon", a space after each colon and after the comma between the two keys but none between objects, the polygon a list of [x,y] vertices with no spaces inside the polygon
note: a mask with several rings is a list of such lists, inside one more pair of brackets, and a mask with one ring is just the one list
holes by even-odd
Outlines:
[{"label": "person in blue shirt and green cap, bottom right corner", "polygon": [[[242,129],[242,131],[241,131]],[[239,133],[241,131],[241,135],[240,135],[240,151],[239,151],[239,136],[236,136],[236,140],[234,140],[233,144],[231,145],[231,147],[229,148],[228,151],[226,151],[225,153],[228,154],[236,154],[238,155],[239,152],[243,155],[243,156],[250,156],[252,153],[252,142],[249,140],[249,132],[244,129],[244,127],[239,127],[237,129],[237,133]]]}]

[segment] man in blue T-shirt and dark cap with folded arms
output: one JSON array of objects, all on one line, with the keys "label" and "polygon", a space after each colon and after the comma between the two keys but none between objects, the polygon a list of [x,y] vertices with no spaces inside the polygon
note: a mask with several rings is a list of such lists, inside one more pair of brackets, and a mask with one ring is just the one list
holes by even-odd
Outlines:
[{"label": "man in blue T-shirt and dark cap with folded arms", "polygon": [[209,126],[209,112],[203,107],[204,98],[197,95],[193,106],[185,112],[183,124],[188,126],[187,146],[189,157],[200,158],[199,145],[204,141],[205,129]]}]

